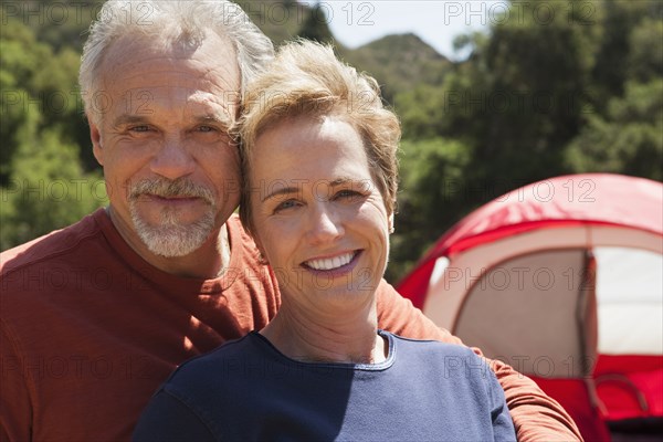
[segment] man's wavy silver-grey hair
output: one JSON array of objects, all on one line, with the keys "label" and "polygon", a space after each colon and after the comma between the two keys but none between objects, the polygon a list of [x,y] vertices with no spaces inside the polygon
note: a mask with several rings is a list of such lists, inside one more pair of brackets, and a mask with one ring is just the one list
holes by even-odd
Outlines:
[{"label": "man's wavy silver-grey hair", "polygon": [[165,35],[185,44],[200,44],[207,31],[228,38],[240,67],[241,91],[274,57],[272,41],[238,4],[228,0],[108,0],[90,29],[83,48],[78,83],[85,112],[98,122],[94,97],[99,92],[104,55],[123,35]]}]

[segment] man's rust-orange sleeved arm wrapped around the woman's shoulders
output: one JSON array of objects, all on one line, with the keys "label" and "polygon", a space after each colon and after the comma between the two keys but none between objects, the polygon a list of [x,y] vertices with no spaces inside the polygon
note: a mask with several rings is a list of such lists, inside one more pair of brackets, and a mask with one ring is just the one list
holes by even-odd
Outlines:
[{"label": "man's rust-orange sleeved arm wrapped around the woman's shoulders", "polygon": [[[380,328],[409,338],[463,344],[461,339],[433,324],[385,281],[378,288],[378,323]],[[484,357],[478,348],[473,350]],[[504,389],[519,441],[582,440],[568,413],[536,382],[499,360],[485,360]]]}]

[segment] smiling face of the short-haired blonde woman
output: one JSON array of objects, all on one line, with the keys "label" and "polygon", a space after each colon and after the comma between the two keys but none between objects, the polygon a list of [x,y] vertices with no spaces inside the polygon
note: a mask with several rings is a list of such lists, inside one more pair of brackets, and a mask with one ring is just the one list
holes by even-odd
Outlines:
[{"label": "smiling face of the short-haired blonde woman", "polygon": [[327,314],[370,302],[390,213],[355,128],[334,116],[288,119],[257,138],[252,161],[254,233],[284,297]]}]

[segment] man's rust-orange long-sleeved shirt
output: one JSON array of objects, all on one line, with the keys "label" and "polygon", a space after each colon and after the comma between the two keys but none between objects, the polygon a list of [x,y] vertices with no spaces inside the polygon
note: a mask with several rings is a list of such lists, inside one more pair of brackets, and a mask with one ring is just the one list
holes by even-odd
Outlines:
[{"label": "man's rust-orange long-sleeved shirt", "polygon": [[[129,440],[149,398],[186,359],[261,329],[280,294],[233,217],[231,260],[215,280],[182,278],[136,254],[103,209],[0,255],[0,439]],[[387,283],[380,328],[460,340]],[[492,361],[520,440],[573,440],[566,412]]]}]

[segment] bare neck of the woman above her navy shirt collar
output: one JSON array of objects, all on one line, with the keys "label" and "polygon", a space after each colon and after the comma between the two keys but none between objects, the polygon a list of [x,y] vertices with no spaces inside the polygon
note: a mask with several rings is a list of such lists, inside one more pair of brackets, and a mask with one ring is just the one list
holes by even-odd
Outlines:
[{"label": "bare neck of the woman above her navy shirt collar", "polygon": [[285,356],[308,362],[379,364],[387,359],[388,345],[377,334],[375,305],[369,311],[311,318],[286,299],[278,314],[260,333]]}]

